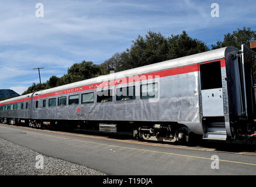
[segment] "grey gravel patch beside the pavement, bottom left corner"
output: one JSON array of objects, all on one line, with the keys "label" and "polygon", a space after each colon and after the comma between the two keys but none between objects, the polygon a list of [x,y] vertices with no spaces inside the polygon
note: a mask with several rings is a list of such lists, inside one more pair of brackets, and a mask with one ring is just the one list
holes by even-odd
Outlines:
[{"label": "grey gravel patch beside the pavement, bottom left corner", "polygon": [[[42,159],[43,158],[43,159]],[[43,164],[40,165],[40,163]],[[41,167],[43,166],[43,167]],[[106,175],[0,138],[0,175]]]}]

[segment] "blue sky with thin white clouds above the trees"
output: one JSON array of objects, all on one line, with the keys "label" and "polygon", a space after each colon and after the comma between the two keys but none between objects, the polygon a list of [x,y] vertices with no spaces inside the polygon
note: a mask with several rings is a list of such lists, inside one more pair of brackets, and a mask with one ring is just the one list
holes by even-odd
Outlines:
[{"label": "blue sky with thin white clouds above the trees", "polygon": [[[37,18],[37,3],[44,17]],[[219,4],[219,18],[210,15]],[[181,34],[206,42],[243,26],[256,30],[256,1],[79,1],[0,2],[0,89],[22,93],[33,82],[61,77],[83,60],[103,63],[129,48],[148,30]]]}]

